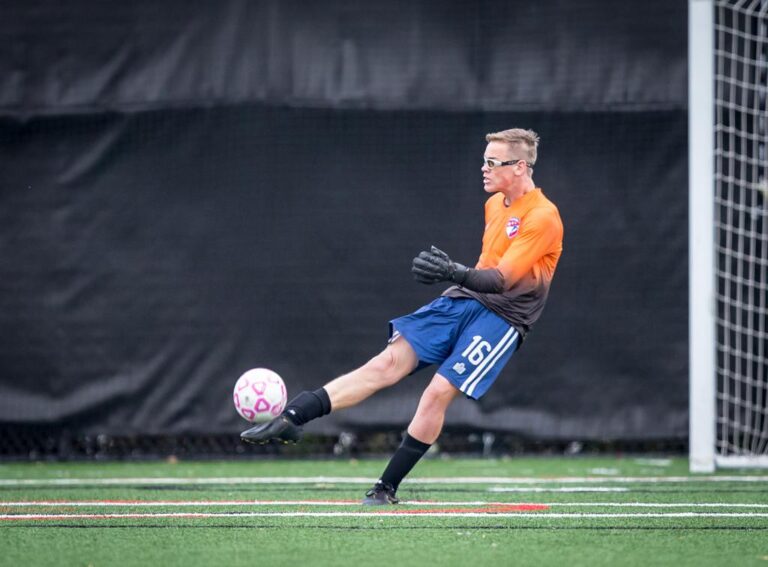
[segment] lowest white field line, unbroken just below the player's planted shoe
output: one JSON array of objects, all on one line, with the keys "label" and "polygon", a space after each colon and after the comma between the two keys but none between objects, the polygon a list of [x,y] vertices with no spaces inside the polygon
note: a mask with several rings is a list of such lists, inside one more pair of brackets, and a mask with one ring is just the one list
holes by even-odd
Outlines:
[{"label": "lowest white field line, unbroken just below the player's planted shoe", "polygon": [[0,514],[0,520],[113,520],[157,518],[768,518],[762,512],[484,513],[484,512],[163,512],[127,514]]}]

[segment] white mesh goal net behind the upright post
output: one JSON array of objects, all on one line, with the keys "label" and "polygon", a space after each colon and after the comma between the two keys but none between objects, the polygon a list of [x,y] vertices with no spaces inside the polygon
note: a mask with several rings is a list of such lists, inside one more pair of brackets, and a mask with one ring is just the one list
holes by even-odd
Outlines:
[{"label": "white mesh goal net behind the upright post", "polygon": [[713,9],[715,463],[768,466],[768,0]]}]

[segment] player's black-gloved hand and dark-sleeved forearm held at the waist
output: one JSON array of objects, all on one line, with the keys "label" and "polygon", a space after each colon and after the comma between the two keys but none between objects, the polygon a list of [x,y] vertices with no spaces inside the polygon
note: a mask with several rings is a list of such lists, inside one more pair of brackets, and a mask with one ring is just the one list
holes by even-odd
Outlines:
[{"label": "player's black-gloved hand and dark-sleeved forearm held at the waist", "polygon": [[505,289],[504,276],[496,268],[467,268],[434,246],[413,259],[411,272],[416,281],[424,284],[450,281],[480,293],[501,293]]}]

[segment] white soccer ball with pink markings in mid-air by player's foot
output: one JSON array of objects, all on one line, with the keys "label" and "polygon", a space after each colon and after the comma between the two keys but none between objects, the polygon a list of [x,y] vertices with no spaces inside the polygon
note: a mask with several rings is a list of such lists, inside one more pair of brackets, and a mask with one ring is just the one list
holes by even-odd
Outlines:
[{"label": "white soccer ball with pink markings in mid-air by player's foot", "polygon": [[266,368],[249,370],[235,384],[235,409],[251,423],[263,423],[280,415],[288,392],[280,375]]}]

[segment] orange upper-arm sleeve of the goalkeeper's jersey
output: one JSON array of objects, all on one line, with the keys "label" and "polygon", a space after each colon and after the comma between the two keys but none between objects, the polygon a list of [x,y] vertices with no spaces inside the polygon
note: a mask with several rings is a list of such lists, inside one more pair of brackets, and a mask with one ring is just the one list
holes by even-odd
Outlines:
[{"label": "orange upper-arm sleeve of the goalkeeper's jersey", "polygon": [[557,215],[545,207],[532,209],[520,225],[520,233],[498,265],[507,288],[529,273],[544,256],[554,252],[563,236]]}]

